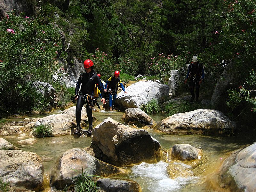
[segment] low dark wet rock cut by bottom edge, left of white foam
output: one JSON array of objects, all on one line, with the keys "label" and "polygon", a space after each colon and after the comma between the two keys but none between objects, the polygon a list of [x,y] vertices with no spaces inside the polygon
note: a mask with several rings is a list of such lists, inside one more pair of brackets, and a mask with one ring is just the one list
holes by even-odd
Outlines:
[{"label": "low dark wet rock cut by bottom edge, left of white foam", "polygon": [[100,187],[100,192],[112,191],[127,191],[127,192],[140,192],[140,185],[132,180],[109,179],[103,178],[97,180],[97,186]]}]

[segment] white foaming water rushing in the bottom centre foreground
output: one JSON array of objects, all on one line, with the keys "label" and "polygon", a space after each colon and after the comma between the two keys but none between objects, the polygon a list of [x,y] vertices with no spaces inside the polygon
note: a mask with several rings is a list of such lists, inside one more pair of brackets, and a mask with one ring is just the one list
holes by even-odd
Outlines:
[{"label": "white foaming water rushing in the bottom centre foreground", "polygon": [[[132,174],[130,178],[140,184],[143,192],[177,191],[187,184],[194,183],[198,180],[198,177],[178,177],[173,180],[168,177],[167,166],[168,163],[163,161],[159,161],[156,164],[143,162],[131,168]],[[184,164],[184,166],[186,165]]]}]

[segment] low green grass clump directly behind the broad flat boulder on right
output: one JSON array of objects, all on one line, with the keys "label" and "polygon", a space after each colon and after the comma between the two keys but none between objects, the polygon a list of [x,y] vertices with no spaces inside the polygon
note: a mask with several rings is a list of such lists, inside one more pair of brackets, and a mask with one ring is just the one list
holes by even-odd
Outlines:
[{"label": "low green grass clump directly behind the broad flat boulder on right", "polygon": [[198,103],[188,103],[187,101],[180,100],[179,102],[171,102],[164,106],[166,114],[172,116],[176,113],[185,113],[200,109],[202,106]]}]

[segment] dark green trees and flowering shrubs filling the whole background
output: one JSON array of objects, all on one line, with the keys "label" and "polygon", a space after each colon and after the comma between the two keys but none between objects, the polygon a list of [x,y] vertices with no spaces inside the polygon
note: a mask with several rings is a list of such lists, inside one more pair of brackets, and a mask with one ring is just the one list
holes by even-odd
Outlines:
[{"label": "dark green trees and flowering shrubs filling the whole background", "polygon": [[187,65],[198,55],[206,74],[200,91],[212,95],[227,70],[233,81],[220,110],[233,120],[255,123],[255,1],[35,3],[38,10],[29,18],[12,12],[0,22],[1,115],[49,108],[51,98],[36,92],[35,80],[52,84],[67,98],[58,102],[65,106],[71,91],[52,75],[63,63],[74,66],[74,57],[92,59],[103,80],[120,70],[128,75],[122,81],[142,74],[166,83],[169,71],[178,70],[184,90]]}]

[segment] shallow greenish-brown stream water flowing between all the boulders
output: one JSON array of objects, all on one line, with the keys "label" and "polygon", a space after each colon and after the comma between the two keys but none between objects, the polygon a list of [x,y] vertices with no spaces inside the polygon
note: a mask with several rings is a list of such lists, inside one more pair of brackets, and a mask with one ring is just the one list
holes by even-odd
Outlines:
[{"label": "shallow greenish-brown stream water flowing between all the boulders", "polygon": [[[60,113],[62,111],[55,111]],[[103,119],[111,117],[112,119],[123,123],[121,120],[124,112],[120,111],[105,111],[101,110],[93,112],[93,116],[98,120],[96,124],[102,122]],[[50,115],[50,114],[48,114]],[[42,115],[28,116],[34,118]],[[45,115],[44,115],[45,116]],[[165,115],[151,116],[155,123],[166,118]],[[22,119],[13,118],[11,121],[21,121]],[[126,175],[118,175],[114,178],[131,179],[137,181],[143,192],[187,192],[187,191],[221,191],[214,187],[214,181],[208,182],[212,178],[212,173],[216,172],[221,163],[231,151],[234,151],[246,144],[250,144],[250,140],[237,139],[235,137],[211,137],[204,135],[167,135],[147,129],[152,137],[159,141],[161,147],[168,151],[175,144],[190,144],[196,148],[200,148],[204,152],[204,162],[195,169],[191,166],[178,161],[159,161],[155,164],[141,163],[133,167],[127,167]],[[21,137],[21,138],[19,138]],[[37,138],[37,143],[33,146],[18,146],[17,141],[27,139],[28,136],[9,136],[4,137],[12,144],[24,151],[31,151],[39,156],[47,156],[51,158],[49,162],[44,162],[46,177],[49,177],[49,171],[54,163],[54,160],[60,157],[68,149],[81,147],[85,148],[91,145],[90,137],[79,137],[66,135],[53,138]],[[166,153],[168,155],[168,153]],[[167,163],[166,163],[167,162]],[[179,167],[178,176],[170,178],[168,175],[169,166]],[[183,171],[190,170],[190,171]],[[192,172],[192,174],[191,174]],[[214,180],[214,179],[212,179]],[[207,182],[206,182],[207,181]],[[49,183],[49,181],[48,181]],[[211,183],[211,185],[209,184]],[[45,192],[51,191],[46,189]]]}]

